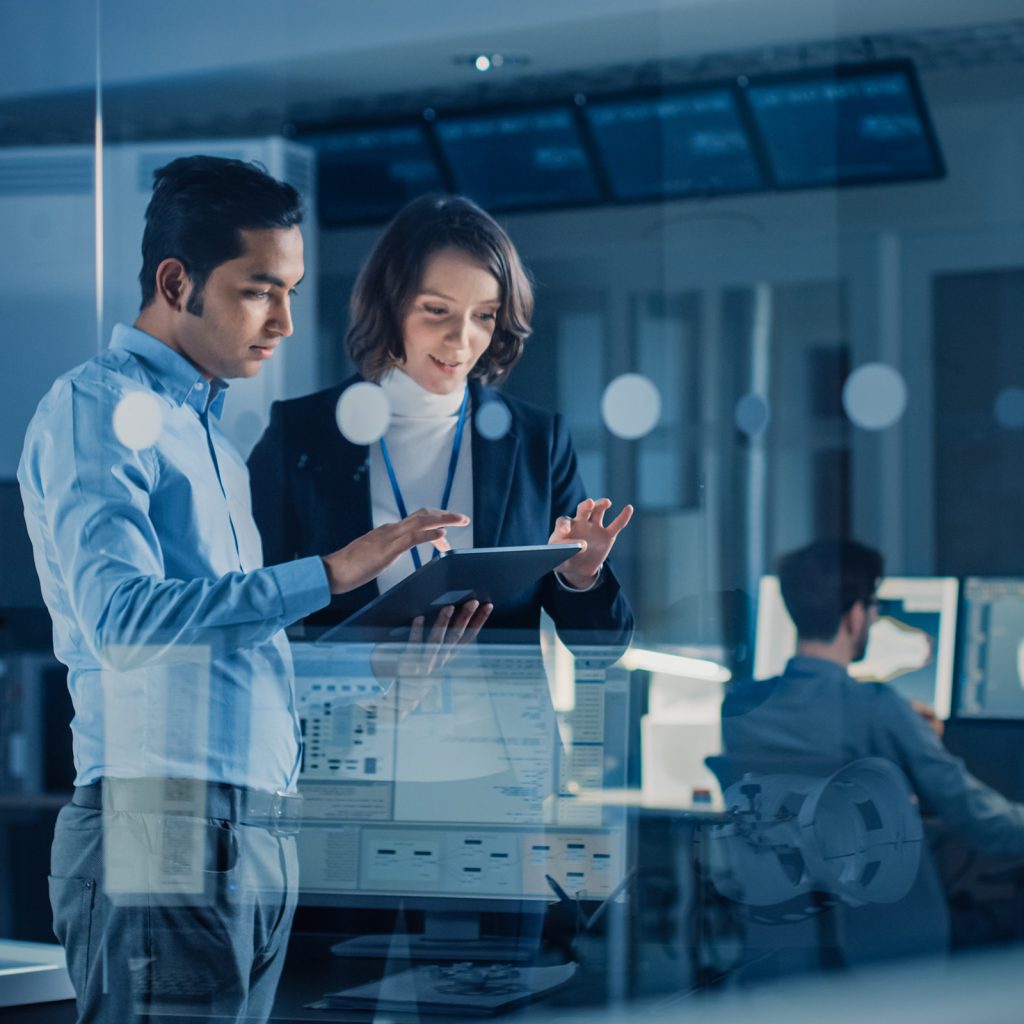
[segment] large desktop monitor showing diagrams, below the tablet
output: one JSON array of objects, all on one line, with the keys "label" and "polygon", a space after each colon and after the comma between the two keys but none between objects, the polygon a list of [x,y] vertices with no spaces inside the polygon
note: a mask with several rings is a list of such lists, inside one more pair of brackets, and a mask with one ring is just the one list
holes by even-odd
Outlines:
[{"label": "large desktop monitor showing diagrams, below the tablet", "polygon": [[[407,955],[513,959],[514,939],[479,934],[482,912],[540,920],[556,899],[549,879],[572,898],[614,895],[625,810],[600,798],[625,784],[618,651],[578,649],[571,707],[556,710],[537,646],[465,647],[436,679],[377,696],[339,674],[346,646],[295,645],[304,904],[422,910]],[[380,955],[389,941],[345,953]]]}]

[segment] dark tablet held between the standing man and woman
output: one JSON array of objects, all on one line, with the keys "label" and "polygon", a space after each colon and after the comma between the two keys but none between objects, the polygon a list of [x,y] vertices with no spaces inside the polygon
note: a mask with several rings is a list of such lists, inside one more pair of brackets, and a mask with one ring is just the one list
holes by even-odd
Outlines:
[{"label": "dark tablet held between the standing man and woman", "polygon": [[459,605],[474,598],[501,607],[583,547],[573,543],[454,548],[364,605],[322,639],[350,638],[353,631],[403,634],[417,615],[429,623],[445,604]]}]

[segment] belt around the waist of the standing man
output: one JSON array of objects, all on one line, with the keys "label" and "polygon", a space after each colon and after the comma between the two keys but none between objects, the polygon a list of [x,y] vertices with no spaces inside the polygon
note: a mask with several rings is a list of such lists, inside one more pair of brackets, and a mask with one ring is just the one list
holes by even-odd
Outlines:
[{"label": "belt around the waist of the standing man", "polygon": [[219,818],[294,836],[302,820],[297,793],[267,793],[191,778],[103,778],[75,787],[72,803],[91,810]]}]

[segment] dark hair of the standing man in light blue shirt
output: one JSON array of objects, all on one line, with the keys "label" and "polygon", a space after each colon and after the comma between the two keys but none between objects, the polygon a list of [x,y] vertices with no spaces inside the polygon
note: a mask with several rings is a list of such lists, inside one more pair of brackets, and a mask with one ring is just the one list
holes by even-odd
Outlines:
[{"label": "dark hair of the standing man in light blue shirt", "polygon": [[245,252],[243,230],[293,227],[302,199],[258,164],[224,157],[180,157],[154,172],[142,233],[144,309],[156,296],[157,267],[178,259],[193,283],[188,312],[203,314],[203,288],[215,267]]}]

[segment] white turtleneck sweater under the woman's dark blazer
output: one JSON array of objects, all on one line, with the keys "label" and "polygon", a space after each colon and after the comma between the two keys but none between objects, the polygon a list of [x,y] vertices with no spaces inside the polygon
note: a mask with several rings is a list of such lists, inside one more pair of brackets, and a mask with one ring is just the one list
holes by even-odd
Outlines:
[{"label": "white turtleneck sweater under the woman's dark blazer", "polygon": [[[391,403],[391,423],[384,439],[406,509],[412,513],[419,508],[438,508],[444,494],[464,389],[453,394],[434,394],[397,369],[384,375],[381,387]],[[472,413],[472,408],[467,410],[447,504],[449,512],[463,512],[468,516],[473,515]],[[380,444],[370,446],[370,500],[375,527],[401,518]],[[472,525],[450,528],[447,540],[453,548],[471,548]],[[430,560],[434,551],[430,544],[421,544],[418,550],[424,563]],[[414,568],[412,554],[401,555],[377,578],[381,593],[404,580]]]}]

